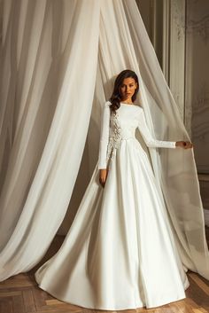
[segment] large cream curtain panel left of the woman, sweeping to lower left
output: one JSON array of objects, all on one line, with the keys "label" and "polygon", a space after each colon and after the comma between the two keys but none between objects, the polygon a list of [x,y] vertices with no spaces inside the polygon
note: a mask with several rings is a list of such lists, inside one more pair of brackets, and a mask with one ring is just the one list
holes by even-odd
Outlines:
[{"label": "large cream curtain panel left of the woman, sweeping to lower left", "polygon": [[[21,4],[25,22],[15,18],[16,1],[4,1],[2,80],[8,88],[1,90],[1,145],[4,149],[9,141],[10,153],[0,199],[1,280],[40,261],[63,221],[88,132],[97,70],[97,0]],[[20,28],[25,43],[18,64],[12,38]]]}]

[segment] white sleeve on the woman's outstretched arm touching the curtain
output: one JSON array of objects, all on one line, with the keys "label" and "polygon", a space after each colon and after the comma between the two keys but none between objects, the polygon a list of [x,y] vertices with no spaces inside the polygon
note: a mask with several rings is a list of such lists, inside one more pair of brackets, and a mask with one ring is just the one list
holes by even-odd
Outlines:
[{"label": "white sleeve on the woman's outstretched arm touching the curtain", "polygon": [[150,129],[148,129],[147,127],[143,109],[141,110],[140,115],[139,115],[138,129],[140,130],[143,136],[143,140],[148,147],[151,147],[151,148],[175,148],[176,147],[175,141],[157,140],[151,136]]}]

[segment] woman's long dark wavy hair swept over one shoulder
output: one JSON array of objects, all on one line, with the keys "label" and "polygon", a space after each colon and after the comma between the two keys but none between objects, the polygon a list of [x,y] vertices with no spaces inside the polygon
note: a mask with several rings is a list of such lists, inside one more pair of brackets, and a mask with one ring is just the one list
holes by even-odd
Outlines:
[{"label": "woman's long dark wavy hair swept over one shoulder", "polygon": [[130,69],[125,69],[124,71],[120,72],[120,74],[118,74],[118,76],[116,77],[115,82],[114,82],[114,88],[112,91],[112,96],[111,96],[111,98],[109,98],[109,101],[112,103],[110,108],[114,112],[120,108],[120,101],[122,100],[122,96],[120,93],[120,87],[123,83],[123,80],[125,78],[129,78],[129,77],[134,78],[135,82],[137,82],[137,87],[135,89],[135,93],[131,98],[132,102],[135,101],[137,92],[139,90],[138,77],[134,71],[132,71]]}]

